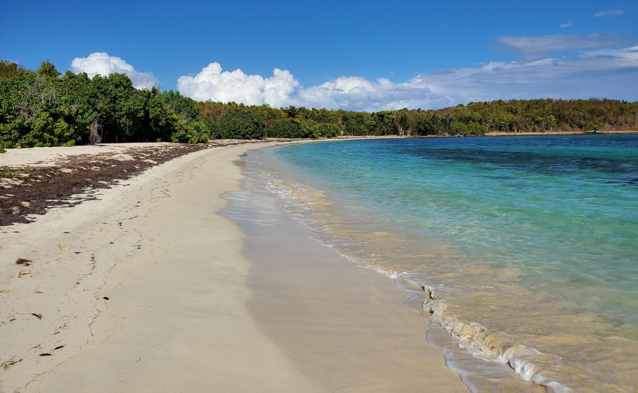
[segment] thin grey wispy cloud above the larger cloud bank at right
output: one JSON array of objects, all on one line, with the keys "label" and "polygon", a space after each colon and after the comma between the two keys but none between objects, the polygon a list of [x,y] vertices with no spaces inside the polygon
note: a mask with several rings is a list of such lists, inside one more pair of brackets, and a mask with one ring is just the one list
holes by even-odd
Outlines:
[{"label": "thin grey wispy cloud above the larger cloud bank at right", "polygon": [[498,38],[498,43],[503,51],[515,52],[525,58],[532,59],[542,57],[550,52],[635,45],[638,40],[618,33],[595,33],[588,35],[559,34],[527,37],[503,36]]}]

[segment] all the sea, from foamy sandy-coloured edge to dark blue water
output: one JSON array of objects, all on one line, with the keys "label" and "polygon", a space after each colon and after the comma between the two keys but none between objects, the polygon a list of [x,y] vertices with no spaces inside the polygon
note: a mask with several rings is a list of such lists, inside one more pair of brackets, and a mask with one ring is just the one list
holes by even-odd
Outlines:
[{"label": "all the sea, from foamy sandy-coloured edge to dark blue water", "polygon": [[338,141],[246,160],[318,240],[425,303],[470,387],[494,390],[508,364],[554,391],[638,389],[638,135]]}]

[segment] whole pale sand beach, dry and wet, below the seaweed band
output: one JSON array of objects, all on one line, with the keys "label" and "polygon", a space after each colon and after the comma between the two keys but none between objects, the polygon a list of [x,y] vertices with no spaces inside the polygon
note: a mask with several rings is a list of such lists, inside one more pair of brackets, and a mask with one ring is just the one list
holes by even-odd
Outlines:
[{"label": "whole pale sand beach, dry and wet, below the seaweed band", "polygon": [[218,214],[262,146],[0,228],[0,392],[467,391],[391,281],[303,231],[260,257]]}]

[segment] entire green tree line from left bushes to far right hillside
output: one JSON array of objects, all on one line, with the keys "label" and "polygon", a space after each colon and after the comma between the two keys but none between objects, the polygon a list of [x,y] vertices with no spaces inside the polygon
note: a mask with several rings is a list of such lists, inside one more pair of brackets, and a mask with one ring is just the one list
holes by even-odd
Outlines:
[{"label": "entire green tree line from left bushes to far right hillside", "polygon": [[3,148],[112,142],[200,143],[209,139],[338,135],[472,136],[487,132],[638,129],[638,102],[496,100],[445,109],[356,112],[197,102],[174,91],[135,89],[123,73],[61,75],[0,61]]}]

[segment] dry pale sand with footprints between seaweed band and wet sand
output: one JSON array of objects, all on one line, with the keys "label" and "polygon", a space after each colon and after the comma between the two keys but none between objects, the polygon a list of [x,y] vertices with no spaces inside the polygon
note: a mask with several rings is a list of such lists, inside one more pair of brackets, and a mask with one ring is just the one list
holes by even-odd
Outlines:
[{"label": "dry pale sand with footprints between seaweed band and wet sand", "polygon": [[[290,343],[272,339],[255,320],[249,304],[257,297],[248,282],[254,266],[242,256],[244,235],[217,213],[226,206],[221,194],[239,189],[241,171],[232,162],[275,144],[190,153],[98,190],[94,200],[4,227],[0,391],[330,390],[313,367],[291,356],[298,348],[285,348]],[[29,260],[29,278],[19,278],[18,258]],[[379,285],[402,296],[387,281]],[[412,312],[400,302],[396,307]],[[423,348],[429,361],[421,385],[467,390],[444,366],[441,350],[424,339]],[[360,346],[350,350],[383,357]],[[323,351],[313,361],[325,364],[329,356]]]}]

